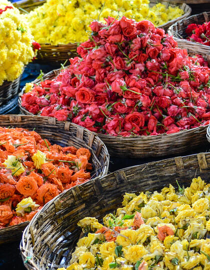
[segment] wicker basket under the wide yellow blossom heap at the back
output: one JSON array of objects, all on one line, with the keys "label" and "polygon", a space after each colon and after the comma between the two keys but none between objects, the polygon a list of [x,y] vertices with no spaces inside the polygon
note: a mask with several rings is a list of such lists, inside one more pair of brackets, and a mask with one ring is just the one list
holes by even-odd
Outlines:
[{"label": "wicker basket under the wide yellow blossom heap at the back", "polygon": [[[26,11],[30,11],[34,9],[35,7],[43,4],[46,2],[45,0],[21,0],[16,3],[14,3],[14,6],[18,8],[22,8]],[[150,5],[156,4],[156,0],[150,0]],[[170,2],[165,2],[165,1],[158,1],[164,3],[166,6],[174,5],[173,1]],[[191,8],[185,4],[178,4],[178,6],[184,11],[184,14],[178,18],[175,18],[173,20],[170,20],[162,25],[159,25],[158,27],[164,28],[167,30],[167,28],[176,22],[179,19],[188,17],[191,13]],[[21,11],[21,9],[20,9]],[[47,44],[47,43],[41,43],[41,49],[37,51],[36,55],[36,62],[39,63],[50,63],[50,62],[64,62],[66,59],[75,57],[77,55],[76,53],[76,48],[77,48],[77,43],[68,43],[68,44],[60,44],[60,45],[52,45],[52,44]]]}]

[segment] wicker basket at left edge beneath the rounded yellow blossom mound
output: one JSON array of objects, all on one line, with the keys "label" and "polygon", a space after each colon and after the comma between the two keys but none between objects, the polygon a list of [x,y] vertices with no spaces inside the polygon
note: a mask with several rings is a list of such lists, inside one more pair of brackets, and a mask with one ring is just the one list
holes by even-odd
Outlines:
[{"label": "wicker basket at left edge beneath the rounded yellow blossom mound", "polygon": [[16,78],[13,81],[5,80],[2,85],[0,85],[0,105],[6,103],[10,98],[18,93],[20,78]]}]

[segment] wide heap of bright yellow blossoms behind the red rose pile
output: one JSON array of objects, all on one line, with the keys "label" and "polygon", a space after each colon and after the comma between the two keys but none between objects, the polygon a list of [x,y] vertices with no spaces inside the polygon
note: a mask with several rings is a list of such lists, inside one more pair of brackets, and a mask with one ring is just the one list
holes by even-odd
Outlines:
[{"label": "wide heap of bright yellow blossoms behind the red rose pile", "polygon": [[149,7],[149,0],[47,0],[26,16],[37,42],[56,45],[87,40],[88,25],[97,18],[124,15],[158,26],[182,14],[178,6],[157,3]]}]

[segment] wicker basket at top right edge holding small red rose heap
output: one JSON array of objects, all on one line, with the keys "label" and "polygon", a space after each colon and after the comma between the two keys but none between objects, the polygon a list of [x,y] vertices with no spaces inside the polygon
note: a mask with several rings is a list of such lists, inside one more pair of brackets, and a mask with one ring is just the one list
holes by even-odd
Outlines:
[{"label": "wicker basket at top right edge holding small red rose heap", "polygon": [[189,54],[194,54],[195,52],[201,54],[210,64],[210,46],[184,39],[187,37],[187,34],[185,33],[187,25],[190,23],[202,24],[205,21],[209,21],[209,19],[210,11],[181,19],[168,28],[168,34],[174,36],[174,39],[178,43],[178,47],[186,48]]}]

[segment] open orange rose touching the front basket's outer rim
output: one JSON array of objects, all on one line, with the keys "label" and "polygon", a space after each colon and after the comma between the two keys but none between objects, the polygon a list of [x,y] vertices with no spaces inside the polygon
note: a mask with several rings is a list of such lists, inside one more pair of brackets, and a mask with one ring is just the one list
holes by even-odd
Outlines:
[{"label": "open orange rose touching the front basket's outer rim", "polygon": [[42,184],[37,190],[38,204],[45,204],[59,194],[57,186],[51,183]]}]

